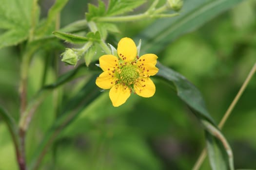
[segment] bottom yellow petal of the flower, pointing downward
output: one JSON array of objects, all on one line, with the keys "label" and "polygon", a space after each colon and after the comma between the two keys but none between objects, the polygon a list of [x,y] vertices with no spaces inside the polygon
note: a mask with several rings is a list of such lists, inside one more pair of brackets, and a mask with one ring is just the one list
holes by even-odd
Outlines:
[{"label": "bottom yellow petal of the flower, pointing downward", "polygon": [[130,95],[130,89],[126,85],[121,84],[113,86],[109,91],[109,98],[115,107],[126,102]]}]

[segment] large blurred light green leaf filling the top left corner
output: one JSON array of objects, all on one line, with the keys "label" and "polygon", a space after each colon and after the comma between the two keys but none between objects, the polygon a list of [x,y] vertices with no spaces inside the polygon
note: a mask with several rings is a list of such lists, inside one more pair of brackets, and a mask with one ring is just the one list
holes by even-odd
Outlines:
[{"label": "large blurred light green leaf filling the top left corner", "polygon": [[0,35],[0,48],[27,39],[30,27],[37,22],[38,9],[37,0],[1,0],[0,28],[6,31]]}]

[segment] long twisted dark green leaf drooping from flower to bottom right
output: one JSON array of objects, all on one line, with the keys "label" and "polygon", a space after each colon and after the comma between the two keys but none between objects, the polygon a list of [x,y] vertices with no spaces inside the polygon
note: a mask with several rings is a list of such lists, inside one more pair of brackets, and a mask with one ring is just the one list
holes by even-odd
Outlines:
[{"label": "long twisted dark green leaf drooping from flower to bottom right", "polygon": [[[190,107],[207,131],[207,149],[211,166],[217,166],[216,170],[222,170],[218,169],[218,167],[229,167],[230,170],[234,170],[232,150],[207,111],[200,91],[184,76],[171,68],[164,67],[160,63],[157,64],[157,67],[159,68],[157,75],[172,85],[173,89],[177,92],[177,96]],[[215,141],[216,139],[217,141]],[[224,155],[219,156],[220,153]],[[224,159],[224,161],[222,159]]]}]

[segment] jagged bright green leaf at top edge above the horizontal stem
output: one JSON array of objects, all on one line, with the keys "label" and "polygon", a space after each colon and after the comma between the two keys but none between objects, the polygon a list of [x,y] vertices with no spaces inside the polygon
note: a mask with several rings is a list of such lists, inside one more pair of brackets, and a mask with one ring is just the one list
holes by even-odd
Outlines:
[{"label": "jagged bright green leaf at top edge above the horizontal stem", "polygon": [[109,0],[108,8],[102,0],[98,0],[98,7],[92,4],[88,5],[88,13],[85,14],[87,21],[94,20],[97,17],[110,17],[133,11],[146,0]]}]

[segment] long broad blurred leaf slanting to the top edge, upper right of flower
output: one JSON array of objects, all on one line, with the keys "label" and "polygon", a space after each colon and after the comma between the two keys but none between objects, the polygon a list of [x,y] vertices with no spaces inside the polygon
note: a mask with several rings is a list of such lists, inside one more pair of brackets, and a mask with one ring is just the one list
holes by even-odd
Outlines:
[{"label": "long broad blurred leaf slanting to the top edge, upper right of flower", "polygon": [[[181,34],[191,32],[242,0],[186,0],[179,16],[156,20],[134,39],[143,37],[143,51],[156,53]],[[145,45],[146,44],[146,45]]]}]

